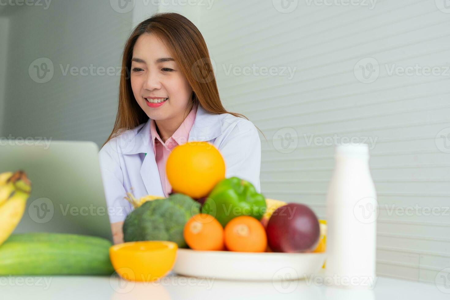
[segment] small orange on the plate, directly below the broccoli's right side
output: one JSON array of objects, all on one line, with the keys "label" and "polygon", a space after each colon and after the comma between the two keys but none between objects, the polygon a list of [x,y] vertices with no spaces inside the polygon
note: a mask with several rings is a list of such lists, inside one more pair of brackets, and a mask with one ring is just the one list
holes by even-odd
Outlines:
[{"label": "small orange on the plate, directly below the broccoli's right side", "polygon": [[223,250],[224,228],[212,215],[194,215],[184,225],[184,240],[194,250]]}]

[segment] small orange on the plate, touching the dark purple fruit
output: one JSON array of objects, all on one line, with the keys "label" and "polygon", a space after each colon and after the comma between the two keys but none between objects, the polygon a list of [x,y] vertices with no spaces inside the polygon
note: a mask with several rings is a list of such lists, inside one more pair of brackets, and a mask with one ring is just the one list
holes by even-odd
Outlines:
[{"label": "small orange on the plate, touching the dark purple fruit", "polygon": [[225,246],[229,251],[264,252],[267,248],[266,230],[257,219],[241,215],[226,224]]}]

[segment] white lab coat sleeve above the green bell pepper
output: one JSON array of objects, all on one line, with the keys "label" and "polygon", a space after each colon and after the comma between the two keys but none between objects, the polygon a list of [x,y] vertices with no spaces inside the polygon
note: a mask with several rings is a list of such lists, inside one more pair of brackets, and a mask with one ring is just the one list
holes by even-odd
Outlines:
[{"label": "white lab coat sleeve above the green bell pepper", "polygon": [[219,151],[225,160],[225,177],[239,177],[252,183],[261,193],[261,140],[251,121],[243,119],[220,143]]}]

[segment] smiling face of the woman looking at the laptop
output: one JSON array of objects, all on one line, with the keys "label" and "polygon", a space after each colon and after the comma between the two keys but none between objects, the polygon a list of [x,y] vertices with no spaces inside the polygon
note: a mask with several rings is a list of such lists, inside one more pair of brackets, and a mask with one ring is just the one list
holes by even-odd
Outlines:
[{"label": "smiling face of the woman looking at the laptop", "polygon": [[[169,50],[153,34],[143,34],[136,40],[130,78],[135,99],[149,118],[175,120],[184,116],[191,103],[192,88]],[[150,103],[149,98],[168,99],[157,104]]]}]

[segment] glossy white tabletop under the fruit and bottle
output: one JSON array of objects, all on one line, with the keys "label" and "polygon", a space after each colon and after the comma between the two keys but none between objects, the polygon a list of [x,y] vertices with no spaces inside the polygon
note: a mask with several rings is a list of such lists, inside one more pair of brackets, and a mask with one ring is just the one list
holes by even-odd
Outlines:
[{"label": "glossy white tabletop under the fruit and bottle", "polygon": [[308,284],[306,280],[244,282],[169,274],[159,282],[127,282],[108,276],[0,277],[0,299],[296,299],[296,300],[440,300],[450,299],[450,287],[379,277],[374,289]]}]

